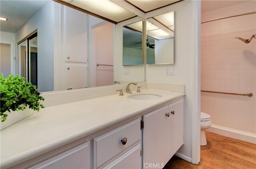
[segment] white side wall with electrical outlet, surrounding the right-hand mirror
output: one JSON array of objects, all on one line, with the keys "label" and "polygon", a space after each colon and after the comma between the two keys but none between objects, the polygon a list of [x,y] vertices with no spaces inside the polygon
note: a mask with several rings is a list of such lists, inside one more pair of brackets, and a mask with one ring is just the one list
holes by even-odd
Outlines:
[{"label": "white side wall with electrical outlet, surrounding the right-hand mirror", "polygon": [[[179,149],[179,153],[185,155],[187,160],[192,158],[192,134],[199,132],[193,131],[193,116],[198,116],[194,106],[198,101],[194,99],[194,32],[195,24],[193,22],[193,1],[182,1],[160,10],[146,13],[146,18],[157,16],[166,12],[175,10],[175,37],[174,37],[174,75],[166,76],[166,67],[170,65],[146,65],[146,82],[149,83],[170,83],[184,84],[186,96],[184,98],[184,145]],[[200,9],[195,9],[199,10]],[[198,119],[199,125],[199,119]]]}]

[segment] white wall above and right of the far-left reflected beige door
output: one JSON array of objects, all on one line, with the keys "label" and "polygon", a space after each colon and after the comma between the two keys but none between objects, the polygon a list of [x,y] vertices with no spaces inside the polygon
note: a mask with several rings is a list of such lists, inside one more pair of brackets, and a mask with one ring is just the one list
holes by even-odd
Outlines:
[{"label": "white wall above and right of the far-left reflected beige door", "polygon": [[14,75],[17,74],[17,65],[15,57],[15,34],[14,33],[8,33],[0,31],[0,43],[8,43],[11,45],[12,51],[11,51],[11,73]]}]

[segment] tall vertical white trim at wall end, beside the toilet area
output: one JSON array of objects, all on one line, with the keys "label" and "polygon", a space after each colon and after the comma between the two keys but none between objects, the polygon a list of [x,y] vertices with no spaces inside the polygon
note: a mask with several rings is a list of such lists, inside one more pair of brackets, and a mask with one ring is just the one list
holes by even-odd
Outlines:
[{"label": "tall vertical white trim at wall end, beside the toilet area", "polygon": [[193,96],[192,109],[192,163],[200,162],[200,88],[201,88],[201,62],[200,62],[200,31],[201,31],[201,1],[193,1]]}]

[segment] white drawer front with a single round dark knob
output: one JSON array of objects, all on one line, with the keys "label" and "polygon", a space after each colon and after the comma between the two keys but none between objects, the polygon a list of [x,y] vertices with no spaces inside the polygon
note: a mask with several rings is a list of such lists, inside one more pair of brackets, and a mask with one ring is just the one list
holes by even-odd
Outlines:
[{"label": "white drawer front with a single round dark knob", "polygon": [[[140,119],[94,138],[94,168],[99,167],[141,138]],[[123,145],[121,140],[127,138]]]}]

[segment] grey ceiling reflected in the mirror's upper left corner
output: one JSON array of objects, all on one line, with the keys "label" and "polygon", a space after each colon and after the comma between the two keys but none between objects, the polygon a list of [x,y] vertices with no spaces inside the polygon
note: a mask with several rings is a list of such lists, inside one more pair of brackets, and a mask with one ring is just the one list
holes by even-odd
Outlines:
[{"label": "grey ceiling reflected in the mirror's upper left corner", "polygon": [[16,33],[47,0],[0,0],[0,16],[8,18],[1,21],[0,30]]}]

